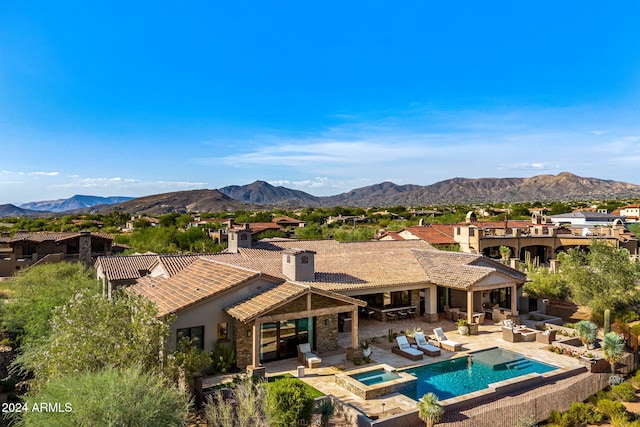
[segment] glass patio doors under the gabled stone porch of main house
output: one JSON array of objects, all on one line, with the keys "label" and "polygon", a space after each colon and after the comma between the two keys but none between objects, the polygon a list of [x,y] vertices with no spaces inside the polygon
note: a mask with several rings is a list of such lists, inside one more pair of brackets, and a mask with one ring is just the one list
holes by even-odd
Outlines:
[{"label": "glass patio doors under the gabled stone porch of main house", "polygon": [[282,320],[260,325],[260,361],[298,357],[298,344],[309,342],[309,319]]}]

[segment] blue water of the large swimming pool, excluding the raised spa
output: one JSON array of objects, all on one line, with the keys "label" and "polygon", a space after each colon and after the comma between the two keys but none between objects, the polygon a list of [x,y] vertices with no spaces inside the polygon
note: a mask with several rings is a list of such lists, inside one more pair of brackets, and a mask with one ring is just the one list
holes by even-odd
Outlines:
[{"label": "blue water of the large swimming pool, excluding the raised spa", "polygon": [[406,396],[419,400],[425,393],[433,392],[439,400],[483,390],[489,384],[521,375],[557,369],[556,366],[537,362],[518,353],[493,348],[471,353],[469,358],[460,357],[407,369],[406,373],[418,378],[416,384],[403,391]]}]

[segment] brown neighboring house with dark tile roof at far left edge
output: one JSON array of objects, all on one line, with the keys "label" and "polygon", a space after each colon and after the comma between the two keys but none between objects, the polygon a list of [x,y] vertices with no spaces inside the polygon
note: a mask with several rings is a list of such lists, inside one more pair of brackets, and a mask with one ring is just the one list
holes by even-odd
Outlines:
[{"label": "brown neighboring house with dark tile roof at far left edge", "polygon": [[113,236],[106,233],[28,232],[18,231],[0,239],[3,257],[0,277],[10,277],[17,270],[36,263],[79,261],[91,265],[99,256],[111,255]]}]

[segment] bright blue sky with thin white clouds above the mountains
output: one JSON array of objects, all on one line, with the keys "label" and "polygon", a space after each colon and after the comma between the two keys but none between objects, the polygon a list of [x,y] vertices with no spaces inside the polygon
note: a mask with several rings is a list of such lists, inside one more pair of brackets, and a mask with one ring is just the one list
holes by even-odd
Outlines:
[{"label": "bright blue sky with thin white clouds above the mountains", "polygon": [[183,3],[0,3],[0,204],[640,184],[636,1]]}]

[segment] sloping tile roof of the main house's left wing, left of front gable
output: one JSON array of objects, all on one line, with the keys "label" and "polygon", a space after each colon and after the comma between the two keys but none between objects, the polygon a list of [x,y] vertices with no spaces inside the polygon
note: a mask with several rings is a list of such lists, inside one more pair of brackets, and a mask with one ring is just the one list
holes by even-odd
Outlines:
[{"label": "sloping tile roof of the main house's left wing, left of front gable", "polygon": [[259,277],[260,273],[199,258],[170,278],[145,276],[130,288],[156,303],[165,316]]}]

